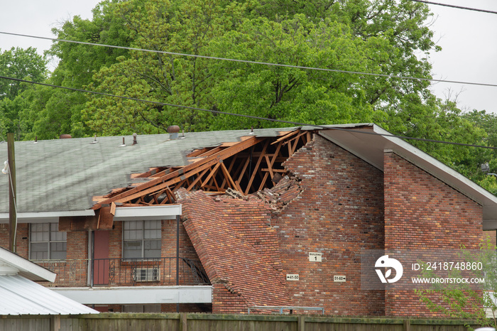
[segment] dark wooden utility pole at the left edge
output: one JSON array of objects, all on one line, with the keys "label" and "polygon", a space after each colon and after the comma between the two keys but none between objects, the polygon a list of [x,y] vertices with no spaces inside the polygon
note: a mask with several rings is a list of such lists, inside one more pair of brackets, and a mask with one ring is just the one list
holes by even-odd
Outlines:
[{"label": "dark wooden utility pole at the left edge", "polygon": [[16,153],[14,151],[13,134],[7,134],[7,154],[9,156],[9,250],[16,253]]}]

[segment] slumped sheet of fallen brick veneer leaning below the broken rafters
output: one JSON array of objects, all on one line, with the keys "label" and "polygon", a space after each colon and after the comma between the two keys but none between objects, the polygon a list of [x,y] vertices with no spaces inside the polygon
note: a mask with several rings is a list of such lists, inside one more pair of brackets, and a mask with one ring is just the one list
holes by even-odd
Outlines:
[{"label": "slumped sheet of fallen brick veneer leaning below the broken rafters", "polygon": [[212,199],[197,191],[181,201],[183,225],[213,285],[213,313],[289,305],[271,212],[259,201]]}]

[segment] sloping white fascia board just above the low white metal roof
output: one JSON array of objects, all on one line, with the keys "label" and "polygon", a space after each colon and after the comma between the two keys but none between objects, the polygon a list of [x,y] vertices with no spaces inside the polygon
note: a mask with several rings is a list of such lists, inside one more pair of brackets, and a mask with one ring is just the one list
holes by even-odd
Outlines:
[{"label": "sloping white fascia board just above the low white metal roof", "polygon": [[38,264],[24,259],[6,249],[0,249],[0,260],[2,261],[2,264],[16,268],[21,276],[26,277],[31,281],[50,281],[53,283],[57,276],[56,273],[43,268],[43,266],[38,266]]}]

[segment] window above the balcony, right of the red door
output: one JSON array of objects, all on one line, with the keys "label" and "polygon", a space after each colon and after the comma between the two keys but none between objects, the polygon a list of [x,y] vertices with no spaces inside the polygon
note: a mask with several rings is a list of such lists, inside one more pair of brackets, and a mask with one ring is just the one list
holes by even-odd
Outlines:
[{"label": "window above the balcony, right of the red door", "polygon": [[160,227],[160,221],[123,222],[123,258],[159,258]]}]

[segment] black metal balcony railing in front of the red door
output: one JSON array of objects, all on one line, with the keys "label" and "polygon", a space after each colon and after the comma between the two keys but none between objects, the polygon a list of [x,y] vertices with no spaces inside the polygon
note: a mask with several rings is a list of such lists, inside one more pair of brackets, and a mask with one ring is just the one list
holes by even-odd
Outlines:
[{"label": "black metal balcony railing in front of the red door", "polygon": [[[57,273],[48,286],[173,286],[176,258],[39,260],[36,264]],[[200,261],[180,258],[179,285],[208,285]]]}]

